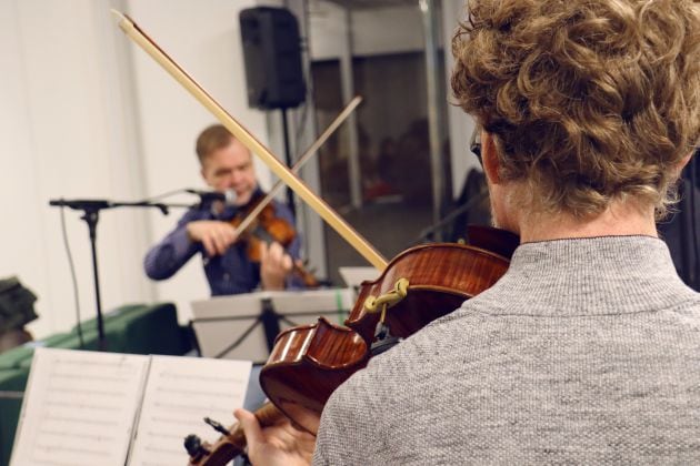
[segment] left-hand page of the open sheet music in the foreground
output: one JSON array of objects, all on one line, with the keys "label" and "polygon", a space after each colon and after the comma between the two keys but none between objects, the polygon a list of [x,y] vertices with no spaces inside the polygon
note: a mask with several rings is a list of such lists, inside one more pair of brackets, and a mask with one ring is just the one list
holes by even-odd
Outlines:
[{"label": "left-hand page of the open sheet music in the foreground", "polygon": [[36,350],[11,466],[122,466],[148,356]]}]

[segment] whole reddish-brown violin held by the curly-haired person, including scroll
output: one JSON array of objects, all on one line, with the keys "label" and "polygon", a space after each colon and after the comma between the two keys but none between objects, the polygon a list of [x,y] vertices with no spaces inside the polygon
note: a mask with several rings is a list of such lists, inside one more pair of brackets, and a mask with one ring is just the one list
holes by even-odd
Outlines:
[{"label": "whole reddish-brown violin held by the curly-haired person, including scroll", "polygon": [[[287,416],[316,434],[330,395],[371,357],[493,285],[506,273],[519,240],[477,226],[469,229],[469,245],[427,244],[396,256],[379,278],[362,283],[347,326],[320,317],[313,325],[280,333],[260,374],[270,399],[254,413],[260,424],[273,425]],[[244,452],[240,428],[219,432],[223,435],[213,444],[187,438],[190,465],[223,466]]]}]

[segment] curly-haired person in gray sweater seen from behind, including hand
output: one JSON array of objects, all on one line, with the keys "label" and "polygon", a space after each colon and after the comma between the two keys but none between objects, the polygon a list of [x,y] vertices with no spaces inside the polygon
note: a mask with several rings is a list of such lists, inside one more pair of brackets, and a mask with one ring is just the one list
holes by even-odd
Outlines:
[{"label": "curly-haired person in gray sweater seen from behind, including hand", "polygon": [[[314,463],[700,464],[700,294],[654,226],[700,138],[700,3],[468,6],[452,90],[521,245],[332,394]],[[308,462],[237,417],[253,464]]]}]

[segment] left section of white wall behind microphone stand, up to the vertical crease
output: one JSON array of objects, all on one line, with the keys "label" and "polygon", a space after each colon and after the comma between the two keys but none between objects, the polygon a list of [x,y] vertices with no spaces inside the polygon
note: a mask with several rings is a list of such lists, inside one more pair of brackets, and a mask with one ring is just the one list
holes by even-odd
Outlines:
[{"label": "left section of white wall behind microphone stand, up to the vertical crease", "polygon": [[[0,2],[0,276],[19,275],[39,296],[37,336],[74,324],[74,300],[54,197],[142,195],[124,58],[109,3]],[[104,212],[98,226],[103,308],[153,296],[140,273],[146,214]],[[88,229],[66,223],[83,318],[94,315]]]}]

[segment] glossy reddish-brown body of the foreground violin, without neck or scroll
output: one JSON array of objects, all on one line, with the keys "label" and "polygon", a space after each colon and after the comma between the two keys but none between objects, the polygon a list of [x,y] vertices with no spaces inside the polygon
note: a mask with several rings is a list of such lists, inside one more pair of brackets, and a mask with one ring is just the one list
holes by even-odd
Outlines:
[{"label": "glossy reddish-brown body of the foreground violin, without neck or scroll", "polygon": [[[439,264],[439,265],[438,265]],[[348,327],[323,318],[313,325],[280,333],[262,368],[260,384],[268,398],[297,425],[316,434],[332,392],[367,365],[380,313],[364,307],[369,296],[390,292],[399,278],[408,294],[386,314],[392,335],[404,338],[458,308],[493,285],[508,269],[499,254],[463,244],[412,247],[389,263],[373,282],[362,283]]]}]

